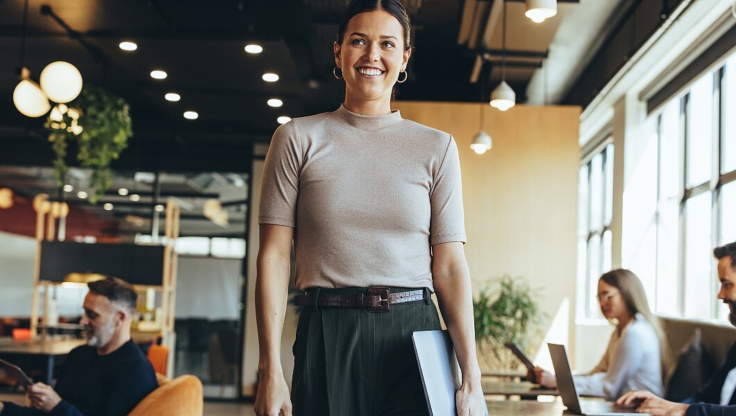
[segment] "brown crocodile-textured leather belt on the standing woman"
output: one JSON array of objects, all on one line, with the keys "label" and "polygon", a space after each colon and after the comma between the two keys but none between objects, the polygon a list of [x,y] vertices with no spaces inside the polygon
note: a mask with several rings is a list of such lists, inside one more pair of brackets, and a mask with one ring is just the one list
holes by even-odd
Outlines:
[{"label": "brown crocodile-textured leather belt on the standing woman", "polygon": [[353,308],[367,308],[369,312],[389,312],[393,304],[427,301],[430,293],[427,288],[410,290],[408,292],[391,293],[388,287],[369,287],[367,294],[357,295],[322,295],[316,298],[313,293],[296,295],[294,304],[297,306],[343,306]]}]

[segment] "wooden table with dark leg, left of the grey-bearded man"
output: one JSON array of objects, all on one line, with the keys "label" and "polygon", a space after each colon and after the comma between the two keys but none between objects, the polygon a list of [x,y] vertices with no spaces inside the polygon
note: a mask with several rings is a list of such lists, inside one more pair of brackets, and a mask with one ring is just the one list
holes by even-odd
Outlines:
[{"label": "wooden table with dark leg, left of the grey-bearded man", "polygon": [[0,357],[13,362],[13,357],[35,356],[46,359],[46,373],[44,383],[53,385],[54,360],[57,356],[65,356],[79,345],[86,344],[86,340],[68,340],[56,338],[35,338],[32,340],[15,341],[10,337],[0,338]]}]

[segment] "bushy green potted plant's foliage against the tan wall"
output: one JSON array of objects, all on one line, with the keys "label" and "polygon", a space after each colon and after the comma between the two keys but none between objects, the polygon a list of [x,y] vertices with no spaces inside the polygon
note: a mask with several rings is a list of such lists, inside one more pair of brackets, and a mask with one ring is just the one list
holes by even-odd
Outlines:
[{"label": "bushy green potted plant's foliage against the tan wall", "polygon": [[523,277],[503,275],[493,279],[473,301],[475,340],[481,354],[490,354],[505,368],[517,367],[517,360],[504,347],[515,343],[523,350],[539,334],[545,318],[539,307],[539,291],[532,290]]}]

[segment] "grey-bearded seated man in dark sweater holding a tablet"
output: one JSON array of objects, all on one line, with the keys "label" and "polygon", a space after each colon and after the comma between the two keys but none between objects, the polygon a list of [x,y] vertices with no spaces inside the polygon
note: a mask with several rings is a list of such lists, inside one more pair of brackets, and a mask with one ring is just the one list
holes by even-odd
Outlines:
[{"label": "grey-bearded seated man in dark sweater holding a tablet", "polygon": [[32,407],[0,402],[0,415],[127,415],[158,387],[153,367],[130,338],[138,298],[126,281],[107,278],[88,284],[87,345],[74,348],[61,367],[55,389],[29,386]]}]

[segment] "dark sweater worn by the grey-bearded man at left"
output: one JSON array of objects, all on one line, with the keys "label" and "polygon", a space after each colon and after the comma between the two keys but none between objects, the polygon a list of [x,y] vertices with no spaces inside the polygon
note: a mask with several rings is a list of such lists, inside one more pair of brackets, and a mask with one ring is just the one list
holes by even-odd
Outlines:
[{"label": "dark sweater worn by the grey-bearded man at left", "polygon": [[[62,401],[50,415],[127,415],[156,387],[151,363],[132,340],[104,356],[82,345],[64,360],[54,387]],[[43,415],[36,409],[4,405],[1,416]]]}]

